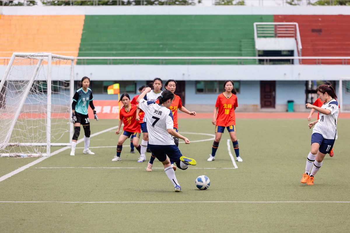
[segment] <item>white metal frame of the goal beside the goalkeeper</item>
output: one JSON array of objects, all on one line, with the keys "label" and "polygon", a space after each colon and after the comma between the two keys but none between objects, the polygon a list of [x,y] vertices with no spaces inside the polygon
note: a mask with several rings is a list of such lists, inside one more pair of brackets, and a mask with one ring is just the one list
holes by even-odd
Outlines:
[{"label": "white metal frame of the goal beside the goalkeeper", "polygon": [[[39,52],[39,53],[13,53],[12,57],[7,65],[5,74],[3,75],[1,82],[0,82],[0,93],[3,88],[3,85],[9,75],[10,69],[13,65],[13,62],[16,57],[22,57],[22,58],[33,58],[38,59],[38,64],[35,68],[35,71],[29,81],[29,84],[25,90],[25,94],[22,96],[20,105],[18,110],[16,111],[15,117],[13,118],[10,129],[7,132],[6,138],[5,138],[5,146],[46,146],[46,153],[43,154],[31,154],[32,156],[50,156],[51,154],[51,146],[71,146],[71,141],[73,137],[73,122],[69,121],[70,127],[69,127],[69,143],[51,143],[51,66],[52,66],[52,58],[56,59],[63,59],[63,60],[70,60],[71,61],[71,70],[70,70],[70,83],[69,83],[69,98],[70,98],[70,105],[73,102],[73,94],[74,94],[74,57],[70,56],[61,56],[53,53],[45,53],[45,52]],[[46,143],[8,143],[9,139],[11,137],[12,131],[14,129],[14,126],[16,124],[16,121],[18,120],[18,117],[21,113],[22,107],[27,99],[27,96],[30,92],[30,88],[33,85],[33,82],[36,78],[36,75],[38,73],[38,70],[43,62],[43,60],[47,60],[48,63],[48,73],[47,73],[47,125],[46,125]],[[69,108],[69,114],[72,115],[72,108]],[[4,156],[10,156],[10,154],[2,154],[2,157]]]}]

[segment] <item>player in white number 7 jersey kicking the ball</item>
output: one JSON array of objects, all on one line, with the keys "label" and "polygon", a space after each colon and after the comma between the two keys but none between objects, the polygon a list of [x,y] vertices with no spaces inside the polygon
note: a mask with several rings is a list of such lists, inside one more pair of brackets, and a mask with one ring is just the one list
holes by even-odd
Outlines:
[{"label": "player in white number 7 jersey kicking the ball", "polygon": [[196,165],[194,159],[183,156],[174,143],[173,137],[183,139],[186,144],[190,141],[174,130],[173,112],[168,109],[175,98],[170,90],[162,92],[158,97],[159,104],[153,101],[144,100],[144,96],[151,92],[151,88],[146,90],[138,97],[137,102],[139,108],[145,112],[147,117],[147,128],[149,136],[149,148],[152,151],[152,156],[156,157],[163,163],[165,173],[175,187],[175,192],[180,192],[180,184],[176,180],[175,171],[171,162],[176,163],[176,166],[182,170],[186,170],[188,165]]}]

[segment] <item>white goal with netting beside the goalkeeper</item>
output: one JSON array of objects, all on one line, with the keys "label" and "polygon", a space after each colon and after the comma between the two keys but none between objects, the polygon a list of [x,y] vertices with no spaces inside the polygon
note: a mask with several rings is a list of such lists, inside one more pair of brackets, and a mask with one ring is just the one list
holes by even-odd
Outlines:
[{"label": "white goal with netting beside the goalkeeper", "polygon": [[74,58],[14,53],[0,82],[0,156],[50,156],[68,146]]}]

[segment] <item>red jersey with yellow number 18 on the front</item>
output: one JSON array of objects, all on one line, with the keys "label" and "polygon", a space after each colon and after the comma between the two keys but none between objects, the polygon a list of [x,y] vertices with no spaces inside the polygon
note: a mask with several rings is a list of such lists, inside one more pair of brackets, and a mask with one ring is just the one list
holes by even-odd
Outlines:
[{"label": "red jersey with yellow number 18 on the front", "polygon": [[224,93],[218,96],[215,107],[218,108],[218,116],[216,118],[216,125],[230,126],[236,125],[235,109],[238,107],[237,96],[231,93],[230,97],[226,97]]}]

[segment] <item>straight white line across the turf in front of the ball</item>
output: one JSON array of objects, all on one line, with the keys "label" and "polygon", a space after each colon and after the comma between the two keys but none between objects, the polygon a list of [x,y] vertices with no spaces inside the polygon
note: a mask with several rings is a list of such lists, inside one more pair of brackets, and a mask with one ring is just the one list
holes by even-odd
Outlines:
[{"label": "straight white line across the turf in front of the ball", "polygon": [[329,202],[329,201],[296,201],[296,202],[241,202],[241,201],[203,201],[203,202],[14,202],[14,201],[0,201],[0,203],[350,203],[350,202]]}]

